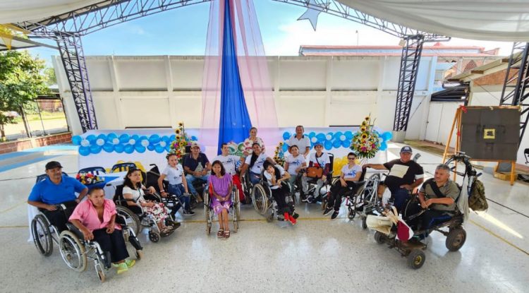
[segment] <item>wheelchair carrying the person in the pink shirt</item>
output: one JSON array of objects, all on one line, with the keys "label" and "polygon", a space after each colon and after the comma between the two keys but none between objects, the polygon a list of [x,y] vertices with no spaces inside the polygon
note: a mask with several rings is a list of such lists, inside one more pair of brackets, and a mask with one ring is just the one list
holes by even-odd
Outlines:
[{"label": "wheelchair carrying the person in the pink shirt", "polygon": [[[143,258],[143,248],[136,237],[133,229],[126,225],[123,215],[116,215],[116,223],[121,225],[125,242],[129,242],[135,249],[138,260]],[[67,223],[68,230],[61,232],[59,237],[59,249],[63,261],[68,268],[76,272],[83,272],[87,267],[87,259],[94,261],[97,277],[101,282],[105,280],[105,271],[111,268],[111,257],[109,251],[102,251],[97,241],[85,240],[83,233],[71,223]]]}]

